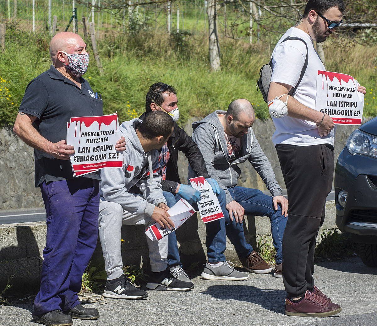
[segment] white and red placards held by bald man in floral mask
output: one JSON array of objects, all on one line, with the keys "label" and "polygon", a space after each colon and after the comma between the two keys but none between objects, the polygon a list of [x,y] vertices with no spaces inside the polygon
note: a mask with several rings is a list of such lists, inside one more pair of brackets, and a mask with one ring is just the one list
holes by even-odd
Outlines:
[{"label": "white and red placards held by bald man in floral mask", "polygon": [[122,167],[123,153],[115,149],[120,139],[118,115],[81,116],[67,123],[67,144],[75,148],[70,155],[75,177],[105,167]]}]

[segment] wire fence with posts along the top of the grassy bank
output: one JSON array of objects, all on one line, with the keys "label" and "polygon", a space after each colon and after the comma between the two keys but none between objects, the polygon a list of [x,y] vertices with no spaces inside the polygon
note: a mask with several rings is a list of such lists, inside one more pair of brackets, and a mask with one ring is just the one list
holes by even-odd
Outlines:
[{"label": "wire fence with posts along the top of the grassy bank", "polygon": [[[360,22],[360,26],[348,24],[346,31],[343,24],[339,32],[354,36],[363,27],[362,31],[371,31],[364,33],[363,40],[375,42],[377,9],[373,3],[353,0],[343,20]],[[216,32],[248,43],[261,39],[276,43],[276,35],[300,20],[305,4],[300,0],[216,0]],[[207,0],[0,0],[0,23],[12,21],[25,31],[50,35],[65,30],[82,34],[85,21],[95,24],[97,37],[141,29],[208,36],[207,9]]]}]

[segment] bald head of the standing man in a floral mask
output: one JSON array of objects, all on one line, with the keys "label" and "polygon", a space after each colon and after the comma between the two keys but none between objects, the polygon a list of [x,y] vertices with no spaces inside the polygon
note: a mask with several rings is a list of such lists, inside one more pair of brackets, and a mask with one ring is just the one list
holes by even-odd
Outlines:
[{"label": "bald head of the standing man in a floral mask", "polygon": [[72,32],[61,32],[56,34],[50,42],[50,56],[52,64],[55,65],[58,51],[68,54],[81,52],[86,48],[86,44],[80,35]]}]

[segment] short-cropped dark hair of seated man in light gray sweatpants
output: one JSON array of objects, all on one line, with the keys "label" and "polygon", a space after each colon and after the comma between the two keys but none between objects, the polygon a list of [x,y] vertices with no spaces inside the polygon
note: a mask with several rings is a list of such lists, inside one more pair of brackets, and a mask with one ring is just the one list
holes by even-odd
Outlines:
[{"label": "short-cropped dark hair of seated man in light gray sweatpants", "polygon": [[138,126],[138,131],[146,139],[159,136],[167,138],[173,127],[174,121],[170,115],[162,111],[152,111],[146,114],[143,123]]}]

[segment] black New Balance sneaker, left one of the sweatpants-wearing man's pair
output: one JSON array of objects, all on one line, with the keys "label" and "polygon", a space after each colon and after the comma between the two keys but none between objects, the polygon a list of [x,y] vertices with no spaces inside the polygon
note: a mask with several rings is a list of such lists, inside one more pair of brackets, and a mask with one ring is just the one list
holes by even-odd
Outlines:
[{"label": "black New Balance sneaker, left one of the sweatpants-wearing man's pair", "polygon": [[106,298],[135,300],[146,298],[148,293],[133,286],[126,275],[121,275],[118,279],[106,281],[102,295]]}]

